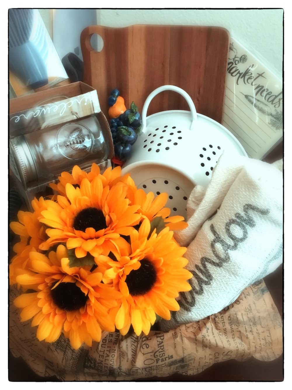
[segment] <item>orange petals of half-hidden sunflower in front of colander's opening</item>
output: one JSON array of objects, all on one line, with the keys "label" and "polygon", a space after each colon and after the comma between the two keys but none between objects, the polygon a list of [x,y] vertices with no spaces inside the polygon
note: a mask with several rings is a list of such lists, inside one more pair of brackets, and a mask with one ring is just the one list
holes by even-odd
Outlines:
[{"label": "orange petals of half-hidden sunflower in front of colander's opening", "polygon": [[164,192],[155,197],[152,191],[146,194],[142,188],[138,189],[132,177],[125,176],[121,180],[128,185],[127,197],[131,204],[140,205],[138,212],[141,213],[141,216],[148,218],[150,221],[159,218],[162,220],[162,225],[169,227],[170,230],[182,230],[188,226],[183,216],[169,216],[171,210],[169,207],[164,207],[168,199],[167,193]]}]

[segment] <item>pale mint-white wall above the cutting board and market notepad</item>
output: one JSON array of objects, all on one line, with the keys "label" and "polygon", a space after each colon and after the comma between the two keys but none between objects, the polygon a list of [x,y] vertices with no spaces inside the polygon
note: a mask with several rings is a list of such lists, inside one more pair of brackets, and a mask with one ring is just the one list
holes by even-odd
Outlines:
[{"label": "pale mint-white wall above the cutting board and market notepad", "polygon": [[97,23],[109,27],[133,24],[225,27],[231,37],[254,54],[259,53],[265,64],[282,73],[283,9],[99,9]]}]

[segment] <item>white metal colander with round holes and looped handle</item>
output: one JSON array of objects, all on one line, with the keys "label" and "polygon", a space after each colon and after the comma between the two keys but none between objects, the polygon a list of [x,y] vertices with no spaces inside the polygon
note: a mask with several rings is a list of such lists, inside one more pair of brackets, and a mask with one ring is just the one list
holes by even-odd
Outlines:
[{"label": "white metal colander with round holes and looped handle", "polygon": [[[146,117],[148,106],[158,93],[171,90],[181,94],[190,111],[170,110]],[[142,129],[123,165],[138,188],[155,195],[167,192],[171,215],[186,217],[186,202],[196,184],[207,186],[213,168],[224,151],[247,156],[237,139],[225,127],[197,114],[190,96],[174,85],[155,89],[142,109]]]}]

